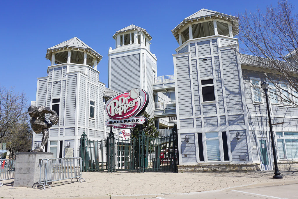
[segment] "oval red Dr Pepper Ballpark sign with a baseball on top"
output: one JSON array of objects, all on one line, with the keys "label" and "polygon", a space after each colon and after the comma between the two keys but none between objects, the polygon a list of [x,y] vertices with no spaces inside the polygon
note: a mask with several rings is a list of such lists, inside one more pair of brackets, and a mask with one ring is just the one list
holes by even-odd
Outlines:
[{"label": "oval red Dr Pepper Ballpark sign with a baseball on top", "polygon": [[149,95],[145,90],[132,89],[115,95],[105,104],[105,111],[110,119],[105,126],[115,129],[130,129],[147,122],[147,118],[139,116],[146,109]]}]

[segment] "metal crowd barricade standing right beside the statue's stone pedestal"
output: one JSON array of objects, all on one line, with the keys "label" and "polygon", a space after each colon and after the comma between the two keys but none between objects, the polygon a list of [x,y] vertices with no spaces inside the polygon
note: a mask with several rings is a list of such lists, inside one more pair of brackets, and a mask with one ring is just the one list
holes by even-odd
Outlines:
[{"label": "metal crowd barricade standing right beside the statue's stone pedestal", "polygon": [[82,158],[49,158],[42,159],[40,164],[40,176],[39,182],[34,186],[43,186],[44,190],[45,186],[51,186],[48,184],[49,182],[66,180],[66,179],[74,179],[77,181],[82,179]]}]

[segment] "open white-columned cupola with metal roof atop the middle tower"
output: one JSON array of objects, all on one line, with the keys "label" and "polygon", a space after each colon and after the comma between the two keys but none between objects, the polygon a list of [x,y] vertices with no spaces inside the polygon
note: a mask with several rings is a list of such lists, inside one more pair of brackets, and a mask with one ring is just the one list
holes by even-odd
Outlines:
[{"label": "open white-columned cupola with metal roof atop the middle tower", "polygon": [[128,27],[118,30],[113,38],[115,39],[115,48],[127,45],[139,45],[150,50],[150,41],[152,37],[144,28],[135,26],[133,24]]}]

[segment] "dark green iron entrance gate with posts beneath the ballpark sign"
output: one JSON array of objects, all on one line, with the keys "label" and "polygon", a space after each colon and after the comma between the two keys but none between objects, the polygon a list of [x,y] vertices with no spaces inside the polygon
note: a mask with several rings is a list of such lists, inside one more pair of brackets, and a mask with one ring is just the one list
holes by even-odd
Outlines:
[{"label": "dark green iron entrance gate with posts beneath the ballpark sign", "polygon": [[[176,126],[175,126],[176,127]],[[178,136],[173,129],[167,137],[149,138],[139,131],[136,138],[118,139],[113,133],[103,140],[89,140],[85,132],[80,139],[82,170],[178,172]]]}]

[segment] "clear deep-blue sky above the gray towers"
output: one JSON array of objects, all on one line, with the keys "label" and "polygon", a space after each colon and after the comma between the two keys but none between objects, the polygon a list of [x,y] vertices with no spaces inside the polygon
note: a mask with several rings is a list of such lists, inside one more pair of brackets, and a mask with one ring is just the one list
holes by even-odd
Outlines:
[{"label": "clear deep-blue sky above the gray towers", "polygon": [[[157,73],[173,72],[178,43],[171,33],[184,18],[201,8],[237,15],[276,1],[1,1],[0,84],[24,91],[35,101],[38,77],[47,76],[46,49],[77,36],[103,55],[97,69],[108,86],[108,49],[117,30],[130,24],[153,37],[150,51],[157,56]],[[297,1],[291,1],[298,5]]]}]

